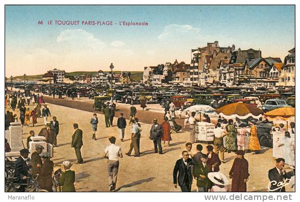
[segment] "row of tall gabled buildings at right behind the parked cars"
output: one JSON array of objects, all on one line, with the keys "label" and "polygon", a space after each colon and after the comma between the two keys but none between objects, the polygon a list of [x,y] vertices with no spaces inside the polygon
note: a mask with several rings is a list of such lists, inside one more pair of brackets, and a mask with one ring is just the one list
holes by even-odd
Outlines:
[{"label": "row of tall gabled buildings at right behind the parked cars", "polygon": [[284,62],[278,57],[263,58],[260,50],[219,47],[218,41],[191,50],[191,63],[167,62],[144,68],[145,84],[178,83],[205,86],[213,83],[295,85],[295,48]]}]

